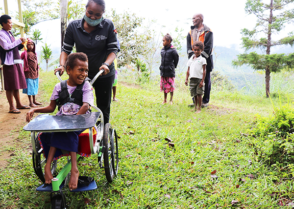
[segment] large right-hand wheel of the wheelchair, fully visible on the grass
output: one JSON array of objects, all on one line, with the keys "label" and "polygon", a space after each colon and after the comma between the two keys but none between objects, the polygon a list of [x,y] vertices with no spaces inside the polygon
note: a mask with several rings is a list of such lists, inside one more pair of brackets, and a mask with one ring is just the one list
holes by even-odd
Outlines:
[{"label": "large right-hand wheel of the wheelchair, fully visible on the grass", "polygon": [[112,144],[112,128],[110,124],[106,124],[104,126],[103,132],[103,146],[105,146],[105,151],[103,153],[103,161],[106,179],[109,183],[112,182],[115,175],[112,163],[114,158],[114,147],[112,146]]}]

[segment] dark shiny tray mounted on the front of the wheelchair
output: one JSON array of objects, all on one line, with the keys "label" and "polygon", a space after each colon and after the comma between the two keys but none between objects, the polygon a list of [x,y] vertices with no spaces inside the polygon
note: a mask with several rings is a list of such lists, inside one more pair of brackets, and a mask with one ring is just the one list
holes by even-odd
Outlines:
[{"label": "dark shiny tray mounted on the front of the wheelchair", "polygon": [[100,112],[83,115],[49,115],[40,114],[24,130],[37,132],[67,132],[93,127],[98,121]]}]

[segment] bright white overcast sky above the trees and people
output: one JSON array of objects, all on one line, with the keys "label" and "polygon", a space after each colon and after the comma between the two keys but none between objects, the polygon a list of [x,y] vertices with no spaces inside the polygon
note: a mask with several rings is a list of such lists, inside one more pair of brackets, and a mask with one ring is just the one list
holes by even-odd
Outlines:
[{"label": "bright white overcast sky above the trees and people", "polygon": [[[202,13],[204,24],[214,33],[214,45],[237,48],[241,43],[241,29],[252,29],[256,23],[254,15],[245,14],[245,2],[246,0],[105,0],[106,10],[113,8],[118,13],[129,11],[146,20],[157,20],[154,28],[163,34],[174,34],[177,26],[184,30],[186,36],[193,15]],[[17,8],[17,0],[9,0],[8,3],[10,10]],[[0,0],[0,6],[3,7],[3,0]],[[41,30],[43,41],[47,44],[60,43],[60,20],[41,22],[35,28]]]}]

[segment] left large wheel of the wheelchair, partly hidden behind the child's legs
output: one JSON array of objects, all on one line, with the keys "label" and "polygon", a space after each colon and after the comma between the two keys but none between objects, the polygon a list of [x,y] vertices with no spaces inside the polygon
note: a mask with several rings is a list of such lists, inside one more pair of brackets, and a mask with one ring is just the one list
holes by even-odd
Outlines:
[{"label": "left large wheel of the wheelchair, partly hidden behind the child's legs", "polygon": [[[38,133],[35,137],[35,145],[36,145],[36,150],[38,154],[36,155],[34,152],[32,152],[32,158],[33,158],[33,167],[36,175],[39,177],[39,179],[45,183],[45,175],[44,175],[44,167],[47,162],[46,158],[44,157],[43,154],[43,149],[40,145],[40,142],[38,140],[40,133]],[[34,146],[34,145],[33,145]],[[51,163],[51,173],[52,175],[55,173],[57,167],[57,160],[53,160]]]}]

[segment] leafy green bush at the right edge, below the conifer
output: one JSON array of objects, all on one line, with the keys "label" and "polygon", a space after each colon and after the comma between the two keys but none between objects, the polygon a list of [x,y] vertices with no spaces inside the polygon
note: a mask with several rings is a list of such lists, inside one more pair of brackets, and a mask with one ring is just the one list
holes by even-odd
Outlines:
[{"label": "leafy green bush at the right edge, below the conifer", "polygon": [[258,117],[250,130],[251,144],[258,160],[269,165],[294,163],[294,109],[290,102],[274,106],[274,116]]}]

